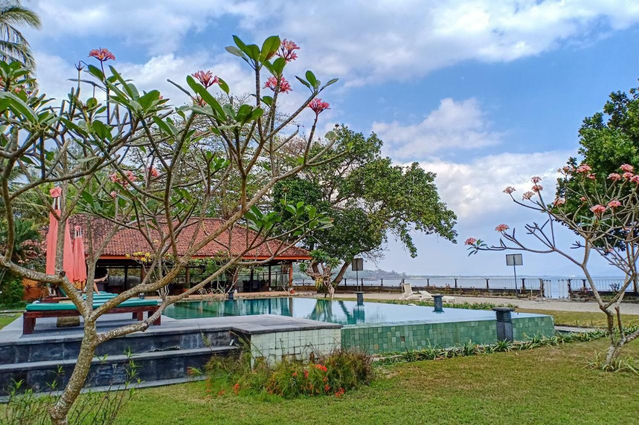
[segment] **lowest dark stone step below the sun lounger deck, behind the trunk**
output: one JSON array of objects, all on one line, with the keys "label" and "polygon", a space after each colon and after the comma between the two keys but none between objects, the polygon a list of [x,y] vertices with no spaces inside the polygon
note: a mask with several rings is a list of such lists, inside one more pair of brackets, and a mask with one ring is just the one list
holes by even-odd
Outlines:
[{"label": "lowest dark stone step below the sun lounger deck, behind the trunk", "polygon": [[[137,379],[145,385],[160,385],[167,380],[180,382],[190,380],[191,368],[204,370],[204,365],[213,355],[231,355],[238,352],[235,345],[220,347],[199,347],[176,350],[144,352],[141,354],[108,355],[95,358],[86,380],[86,387],[109,387],[132,382]],[[137,375],[130,378],[127,368],[130,361],[135,363]],[[0,365],[0,396],[8,395],[10,383],[22,380],[22,390],[35,392],[50,391],[50,384],[56,381],[56,388],[66,385],[75,366],[75,359],[29,361]]]}]

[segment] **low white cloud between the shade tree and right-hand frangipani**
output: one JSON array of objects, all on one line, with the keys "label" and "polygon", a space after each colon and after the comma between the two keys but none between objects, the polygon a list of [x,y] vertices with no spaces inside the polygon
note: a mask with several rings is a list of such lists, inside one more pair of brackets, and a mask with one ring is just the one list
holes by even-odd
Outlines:
[{"label": "low white cloud between the shade tree and right-hand frangipani", "polygon": [[502,153],[475,158],[468,163],[435,160],[420,165],[437,174],[435,183],[442,200],[457,213],[460,222],[468,225],[486,218],[495,221],[520,215],[521,207],[513,205],[503,190],[513,186],[516,189],[513,196],[521,198],[521,194],[532,187],[530,177],[534,175],[542,177],[544,200],[550,202],[555,196],[557,168],[573,154],[571,151]]}]

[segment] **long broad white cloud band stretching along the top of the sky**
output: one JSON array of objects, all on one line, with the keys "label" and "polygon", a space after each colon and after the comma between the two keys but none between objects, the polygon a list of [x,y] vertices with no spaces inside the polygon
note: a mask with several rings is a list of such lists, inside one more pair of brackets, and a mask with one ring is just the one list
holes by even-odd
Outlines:
[{"label": "long broad white cloud band stretching along the top of the sky", "polygon": [[206,48],[221,52],[213,31],[237,21],[256,39],[272,33],[293,38],[302,45],[304,66],[346,77],[346,86],[419,77],[460,61],[512,61],[639,21],[634,0],[360,0],[321,6],[307,0],[295,7],[284,0],[42,0],[35,9],[44,23],[42,31],[29,32],[35,40],[119,38],[142,45],[151,56],[181,56],[192,33],[211,34]]}]

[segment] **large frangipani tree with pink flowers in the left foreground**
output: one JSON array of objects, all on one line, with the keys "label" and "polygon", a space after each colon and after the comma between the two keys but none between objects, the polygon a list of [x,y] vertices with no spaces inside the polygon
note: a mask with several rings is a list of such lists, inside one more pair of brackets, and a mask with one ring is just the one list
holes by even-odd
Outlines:
[{"label": "large frangipani tree with pink flowers in the left foreground", "polygon": [[[73,79],[77,87],[58,103],[44,94],[27,91],[31,81],[25,68],[17,63],[0,63],[3,81],[0,91],[0,197],[8,223],[6,241],[0,252],[0,267],[18,276],[64,288],[84,319],[84,336],[75,368],[60,398],[49,410],[54,424],[66,423],[100,343],[146,330],[167,306],[196,292],[232,267],[264,264],[309,232],[331,225],[332,220],[311,205],[290,205],[284,201],[281,210],[286,209],[295,220],[283,229],[275,226],[281,221],[281,211],[261,211],[256,205],[277,182],[332,159],[324,158],[326,151],[310,154],[309,147],[316,138],[319,114],[329,107],[327,102],[318,99],[318,94],[337,80],[321,84],[311,71],[305,73],[305,78],[296,77],[309,89],[309,95],[286,120],[276,123],[279,97],[289,89],[284,70],[296,59],[295,50],[299,47],[278,36],[268,37],[261,47],[247,45],[236,36],[234,40],[235,46],[227,47],[227,50],[240,57],[254,72],[252,104],[235,105],[231,88],[222,78],[213,76],[210,71],[197,71],[187,76],[185,87],[173,83],[189,96],[190,104],[171,106],[160,91],[141,91],[116,68],[107,68],[105,65],[115,57],[105,48],[92,50],[89,54],[99,66],[78,64],[78,77]],[[84,96],[87,86],[89,96]],[[264,88],[266,93],[262,93]],[[219,89],[217,96],[226,101],[220,103],[212,93],[214,89]],[[281,151],[286,150],[293,138],[300,138],[298,130],[289,130],[289,124],[306,108],[314,112],[309,134],[304,137],[306,148],[295,161],[282,161]],[[191,128],[197,117],[204,117],[208,124],[203,131]],[[183,125],[176,126],[178,121]],[[224,141],[224,149],[220,152],[191,149],[207,134],[219,136]],[[328,150],[334,135],[328,133],[326,138]],[[289,158],[289,155],[285,157]],[[22,170],[26,179],[10,186],[9,177],[15,168]],[[247,180],[254,173],[261,173],[265,179],[259,188],[249,193]],[[187,175],[188,180],[185,179]],[[224,185],[230,175],[239,179],[239,190],[235,195],[237,207],[219,228],[197,239],[196,235],[203,228],[207,205],[214,201],[217,188]],[[13,223],[17,217],[14,207],[27,193],[37,193],[43,204],[50,205],[50,198],[39,189],[51,184],[61,190],[61,207],[59,212],[49,207],[60,225],[55,273],[46,274],[13,261],[16,238]],[[199,190],[198,197],[192,197],[189,188],[196,185],[204,189]],[[62,267],[64,228],[66,219],[72,214],[86,216],[89,230],[84,235],[88,239],[89,253],[86,258],[89,288],[86,299],[73,288]],[[92,217],[111,223],[100,243],[91,239]],[[231,234],[233,227],[239,224],[256,232],[251,240],[247,238],[242,253],[229,255],[210,276],[181,295],[171,297],[162,290],[197,251],[224,232]],[[96,262],[109,239],[125,228],[139,232],[144,238],[149,252],[147,268],[157,272],[148,272],[139,285],[104,304],[93,306],[90,288],[93,287]],[[193,236],[183,252],[178,250],[178,237],[186,229]],[[273,239],[284,242],[275,250],[267,248],[270,258],[245,259],[247,253]],[[147,320],[105,332],[96,327],[96,320],[109,309],[142,292],[154,291],[161,295],[161,303],[158,311]]]}]

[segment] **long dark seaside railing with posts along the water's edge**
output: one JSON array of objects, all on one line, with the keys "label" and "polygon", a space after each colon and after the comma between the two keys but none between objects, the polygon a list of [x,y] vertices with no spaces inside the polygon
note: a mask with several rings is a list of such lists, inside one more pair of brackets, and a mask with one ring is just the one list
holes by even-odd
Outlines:
[{"label": "long dark seaside railing with posts along the water's edge", "polygon": [[[413,290],[428,289],[442,292],[456,292],[467,294],[509,294],[509,295],[537,295],[546,298],[571,298],[579,294],[588,295],[589,285],[585,279],[544,279],[544,278],[352,278],[343,279],[337,290],[355,290],[364,288],[369,292],[397,292],[401,291],[402,283],[410,283]],[[612,294],[622,287],[622,279],[596,279],[597,291],[601,294]],[[311,279],[295,279],[296,287],[313,287]],[[592,291],[590,291],[592,294]],[[626,294],[636,294],[633,284],[626,288]]]}]

